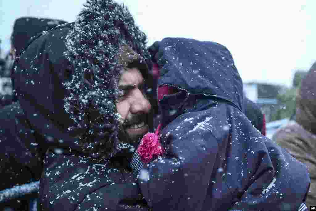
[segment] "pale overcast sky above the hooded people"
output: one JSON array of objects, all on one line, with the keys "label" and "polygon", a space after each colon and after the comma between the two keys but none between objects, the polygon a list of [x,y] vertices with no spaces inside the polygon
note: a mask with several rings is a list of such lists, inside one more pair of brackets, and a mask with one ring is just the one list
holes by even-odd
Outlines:
[{"label": "pale overcast sky above the hooded people", "polygon": [[[21,16],[72,22],[86,0],[0,0],[0,39],[9,50],[14,20]],[[210,40],[232,53],[244,82],[290,86],[295,70],[316,61],[316,1],[119,0],[148,36]]]}]

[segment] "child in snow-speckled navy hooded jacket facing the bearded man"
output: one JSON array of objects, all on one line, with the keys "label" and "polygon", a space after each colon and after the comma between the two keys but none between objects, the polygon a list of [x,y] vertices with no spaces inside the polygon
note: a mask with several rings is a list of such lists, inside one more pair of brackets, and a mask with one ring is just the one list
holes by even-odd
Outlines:
[{"label": "child in snow-speckled navy hooded jacket facing the bearded man", "polygon": [[131,163],[148,205],[298,210],[310,184],[307,168],[242,112],[242,81],[229,51],[184,38],[165,38],[150,49],[161,67],[157,95],[164,153],[138,168],[137,156],[146,158],[138,148]]}]

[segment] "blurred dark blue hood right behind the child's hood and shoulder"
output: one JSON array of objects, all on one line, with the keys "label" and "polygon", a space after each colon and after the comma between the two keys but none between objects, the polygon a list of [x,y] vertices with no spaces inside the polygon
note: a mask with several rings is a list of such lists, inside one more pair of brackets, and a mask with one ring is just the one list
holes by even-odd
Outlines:
[{"label": "blurred dark blue hood right behind the child's hood and shoulder", "polygon": [[262,135],[266,135],[265,116],[256,103],[244,97],[244,109],[246,117],[251,121],[252,125],[257,128]]}]

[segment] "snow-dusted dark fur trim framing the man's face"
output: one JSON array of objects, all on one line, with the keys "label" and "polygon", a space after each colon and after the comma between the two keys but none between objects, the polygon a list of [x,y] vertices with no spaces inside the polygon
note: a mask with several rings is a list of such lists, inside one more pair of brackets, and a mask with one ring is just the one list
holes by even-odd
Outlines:
[{"label": "snow-dusted dark fur trim framing the man's face", "polygon": [[[119,150],[120,115],[115,98],[120,70],[118,59],[123,46],[148,59],[146,35],[135,25],[124,5],[112,0],[88,0],[66,37],[64,53],[73,66],[72,78],[64,86],[69,91],[65,111],[74,121],[69,130],[85,131],[79,144],[96,154]],[[124,54],[124,53],[123,53]],[[96,141],[96,137],[104,137]]]}]

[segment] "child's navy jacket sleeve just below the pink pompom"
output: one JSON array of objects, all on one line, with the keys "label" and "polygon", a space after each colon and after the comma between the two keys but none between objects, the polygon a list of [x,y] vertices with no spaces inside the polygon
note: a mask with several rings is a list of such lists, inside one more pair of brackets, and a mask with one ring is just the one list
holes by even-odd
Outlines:
[{"label": "child's navy jacket sleeve just below the pink pompom", "polygon": [[[207,195],[218,143],[210,131],[178,129],[161,138],[161,143],[168,143],[165,155],[149,163],[138,177],[153,210],[198,211]],[[187,133],[179,135],[181,130]]]}]

